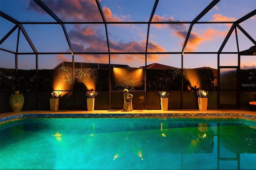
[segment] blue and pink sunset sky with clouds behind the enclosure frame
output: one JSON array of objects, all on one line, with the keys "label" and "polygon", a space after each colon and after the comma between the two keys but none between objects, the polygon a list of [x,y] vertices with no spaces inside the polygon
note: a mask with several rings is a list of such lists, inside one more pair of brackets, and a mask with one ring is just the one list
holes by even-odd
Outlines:
[{"label": "blue and pink sunset sky with clouds behind the enclosure frame", "polygon": [[[94,0],[42,0],[63,22],[94,22],[65,24],[74,52],[108,52],[107,38]],[[159,0],[153,22],[191,22],[210,0]],[[100,0],[107,22],[148,22],[153,0]],[[256,0],[221,0],[200,22],[236,21],[256,9]],[[19,22],[56,22],[31,0],[0,0],[0,10]],[[38,52],[70,52],[60,24],[22,24]],[[185,52],[217,52],[232,24],[194,24]],[[256,16],[239,24],[256,40]],[[15,25],[0,17],[0,38]],[[181,52],[190,24],[150,24],[148,52]],[[110,52],[145,52],[148,24],[107,24]],[[254,44],[239,30],[239,51]],[[16,51],[18,29],[1,45]],[[237,52],[236,35],[232,33],[223,52]],[[33,52],[26,38],[19,36],[18,52]],[[221,54],[221,66],[237,66],[237,55]],[[38,55],[39,69],[53,69],[62,61],[72,61],[69,54]],[[108,54],[75,54],[75,62],[108,63]],[[181,68],[180,54],[148,54],[147,65],[160,63]],[[18,55],[19,69],[36,69],[35,55]],[[130,67],[145,65],[144,54],[112,54],[110,63]],[[15,56],[0,50],[0,67],[15,68]],[[184,54],[184,68],[217,68],[217,54]],[[256,55],[242,56],[241,68],[256,68]]]}]

